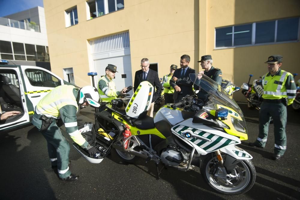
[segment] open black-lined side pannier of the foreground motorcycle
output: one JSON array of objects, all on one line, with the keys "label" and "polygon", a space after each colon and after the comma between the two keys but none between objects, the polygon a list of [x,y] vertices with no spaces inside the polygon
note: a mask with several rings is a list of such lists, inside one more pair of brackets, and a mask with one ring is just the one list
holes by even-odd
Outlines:
[{"label": "open black-lined side pannier of the foreground motorcycle", "polygon": [[112,117],[107,111],[95,113],[95,124],[84,124],[78,127],[81,135],[97,150],[95,155],[89,155],[86,149],[82,149],[73,143],[75,149],[91,163],[100,163],[110,153],[114,141],[123,138],[125,125]]}]

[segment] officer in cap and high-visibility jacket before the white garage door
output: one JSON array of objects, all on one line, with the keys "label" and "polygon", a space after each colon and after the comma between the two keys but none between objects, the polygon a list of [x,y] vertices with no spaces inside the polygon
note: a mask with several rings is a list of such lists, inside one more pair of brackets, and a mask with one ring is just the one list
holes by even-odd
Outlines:
[{"label": "officer in cap and high-visibility jacket before the white garage door", "polygon": [[121,91],[116,91],[116,85],[113,81],[117,72],[117,67],[108,64],[105,68],[105,76],[102,76],[98,82],[98,92],[101,97],[101,109],[105,109],[105,105],[110,103],[111,100],[116,99],[118,95],[125,93],[127,87],[123,88]]}]

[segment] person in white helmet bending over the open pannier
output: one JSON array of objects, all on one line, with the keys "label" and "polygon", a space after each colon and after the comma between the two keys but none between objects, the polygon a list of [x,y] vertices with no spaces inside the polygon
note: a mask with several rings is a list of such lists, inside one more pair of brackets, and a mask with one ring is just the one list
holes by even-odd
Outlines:
[{"label": "person in white helmet bending over the open pannier", "polygon": [[61,119],[74,142],[85,148],[90,155],[94,155],[96,149],[89,145],[78,131],[76,112],[78,106],[89,104],[99,107],[98,100],[98,91],[92,86],[85,86],[78,90],[73,85],[61,85],[43,97],[35,107],[32,124],[47,140],[51,165],[53,169],[57,168],[60,180],[74,181],[78,180],[79,176],[71,174],[69,170],[70,145],[61,134],[57,122]]}]

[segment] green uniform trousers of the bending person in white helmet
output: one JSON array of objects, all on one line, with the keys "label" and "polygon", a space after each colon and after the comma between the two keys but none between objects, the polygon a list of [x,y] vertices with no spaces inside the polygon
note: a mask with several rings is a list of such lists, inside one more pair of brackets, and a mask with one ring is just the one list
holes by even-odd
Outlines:
[{"label": "green uniform trousers of the bending person in white helmet", "polygon": [[[32,124],[35,125],[40,131],[42,120],[41,115],[34,114],[32,118]],[[52,166],[57,165],[58,176],[60,178],[66,178],[70,176],[69,170],[69,153],[70,145],[66,138],[61,134],[59,127],[56,125],[56,120],[53,119],[52,124],[46,131],[40,131],[47,141],[48,155]]]}]

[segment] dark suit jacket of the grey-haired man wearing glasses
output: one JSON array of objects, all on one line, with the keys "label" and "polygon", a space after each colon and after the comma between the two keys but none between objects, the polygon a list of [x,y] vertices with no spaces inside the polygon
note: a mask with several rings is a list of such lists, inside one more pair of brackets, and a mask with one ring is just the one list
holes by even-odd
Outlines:
[{"label": "dark suit jacket of the grey-haired man wearing glasses", "polygon": [[[161,91],[163,89],[163,86],[161,86],[161,82],[158,78],[158,73],[152,69],[149,69],[146,81],[151,83],[154,87],[155,93],[153,94],[153,97],[152,97],[152,103],[153,103],[158,97],[161,96]],[[137,90],[137,88],[139,87],[141,82],[143,82],[143,70],[142,69],[135,72],[134,88],[133,88],[134,92]]]}]

